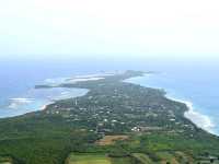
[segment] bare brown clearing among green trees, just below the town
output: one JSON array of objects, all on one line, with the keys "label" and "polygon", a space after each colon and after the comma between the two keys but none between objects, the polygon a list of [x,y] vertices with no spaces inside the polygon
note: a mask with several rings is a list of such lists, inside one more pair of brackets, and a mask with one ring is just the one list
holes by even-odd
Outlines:
[{"label": "bare brown clearing among green trees, just below the town", "polygon": [[105,136],[103,139],[99,140],[96,143],[99,145],[111,145],[114,144],[115,141],[118,140],[127,140],[128,136]]}]

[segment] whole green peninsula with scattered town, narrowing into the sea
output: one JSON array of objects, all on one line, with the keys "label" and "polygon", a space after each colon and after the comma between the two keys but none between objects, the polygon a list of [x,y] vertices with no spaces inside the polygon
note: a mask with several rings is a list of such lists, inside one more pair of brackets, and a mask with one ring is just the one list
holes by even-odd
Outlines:
[{"label": "whole green peninsula with scattered town, narrowing into the sea", "polygon": [[56,87],[90,92],[0,119],[0,160],[83,164],[87,156],[113,164],[217,163],[219,138],[186,119],[186,105],[168,99],[163,91],[123,82],[138,75],[142,72],[127,71],[60,84]]}]

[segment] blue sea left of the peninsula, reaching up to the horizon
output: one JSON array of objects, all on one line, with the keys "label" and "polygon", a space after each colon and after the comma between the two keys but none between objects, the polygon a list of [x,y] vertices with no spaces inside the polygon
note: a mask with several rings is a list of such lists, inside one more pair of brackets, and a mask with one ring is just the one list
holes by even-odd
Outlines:
[{"label": "blue sea left of the peninsula, reaching up to the horizon", "polygon": [[0,58],[0,118],[39,110],[54,99],[84,95],[82,89],[35,90],[36,84],[61,83],[65,79],[96,72],[126,70],[125,65],[99,59]]}]

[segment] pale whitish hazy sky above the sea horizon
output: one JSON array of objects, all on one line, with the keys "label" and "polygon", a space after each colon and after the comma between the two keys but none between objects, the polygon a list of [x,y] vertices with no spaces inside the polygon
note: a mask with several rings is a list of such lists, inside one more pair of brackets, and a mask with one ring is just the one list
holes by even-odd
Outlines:
[{"label": "pale whitish hazy sky above the sea horizon", "polygon": [[218,0],[1,0],[0,58],[219,59]]}]

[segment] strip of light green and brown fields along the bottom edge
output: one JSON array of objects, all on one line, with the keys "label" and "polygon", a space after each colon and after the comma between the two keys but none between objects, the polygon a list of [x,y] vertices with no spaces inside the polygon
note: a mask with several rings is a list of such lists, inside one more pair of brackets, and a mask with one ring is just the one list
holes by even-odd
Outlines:
[{"label": "strip of light green and brown fields along the bottom edge", "polygon": [[[157,152],[160,161],[154,162],[149,155],[134,153],[130,156],[112,157],[99,153],[71,153],[66,164],[185,164],[192,162],[182,152]],[[192,162],[194,163],[194,162]]]}]

